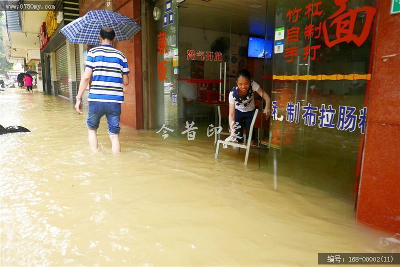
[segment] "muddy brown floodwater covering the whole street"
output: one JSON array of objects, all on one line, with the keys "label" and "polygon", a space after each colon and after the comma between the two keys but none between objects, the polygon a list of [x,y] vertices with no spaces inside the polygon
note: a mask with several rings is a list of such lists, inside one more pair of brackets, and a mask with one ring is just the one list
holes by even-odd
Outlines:
[{"label": "muddy brown floodwater covering the whole street", "polygon": [[106,121],[99,153],[87,111],[6,89],[1,135],[1,265],[317,265],[318,252],[400,252],[399,237],[354,218],[344,198],[258,170],[213,137],[162,139]]}]

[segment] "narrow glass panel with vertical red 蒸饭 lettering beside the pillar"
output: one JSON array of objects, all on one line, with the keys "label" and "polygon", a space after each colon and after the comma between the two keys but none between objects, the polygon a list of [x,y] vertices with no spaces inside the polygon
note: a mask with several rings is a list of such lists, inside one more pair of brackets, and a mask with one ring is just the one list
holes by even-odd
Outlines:
[{"label": "narrow glass panel with vertical red \u84b8\u996d lettering beside the pillar", "polygon": [[172,0],[148,4],[145,23],[145,120],[163,136],[177,136],[177,6]]}]

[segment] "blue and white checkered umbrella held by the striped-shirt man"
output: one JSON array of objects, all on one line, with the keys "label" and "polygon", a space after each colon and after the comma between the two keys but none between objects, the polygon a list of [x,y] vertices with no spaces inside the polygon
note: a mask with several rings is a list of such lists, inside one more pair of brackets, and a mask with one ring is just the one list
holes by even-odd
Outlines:
[{"label": "blue and white checkered umbrella held by the striped-shirt man", "polygon": [[101,28],[110,27],[115,32],[115,42],[130,40],[140,31],[137,23],[121,14],[108,10],[92,10],[61,29],[71,44],[99,45]]}]

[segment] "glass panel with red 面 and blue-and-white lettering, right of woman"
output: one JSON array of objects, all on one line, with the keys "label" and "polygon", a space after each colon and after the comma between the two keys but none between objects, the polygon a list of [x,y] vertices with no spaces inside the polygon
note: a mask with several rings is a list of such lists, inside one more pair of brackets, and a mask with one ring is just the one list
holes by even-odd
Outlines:
[{"label": "glass panel with red \u9762 and blue-and-white lettering, right of woman", "polygon": [[276,3],[271,172],[354,198],[375,7],[374,0]]}]

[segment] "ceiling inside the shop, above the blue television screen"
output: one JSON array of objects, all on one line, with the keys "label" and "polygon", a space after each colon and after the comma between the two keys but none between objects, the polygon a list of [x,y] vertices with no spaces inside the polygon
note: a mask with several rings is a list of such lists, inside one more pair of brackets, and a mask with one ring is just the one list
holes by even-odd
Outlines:
[{"label": "ceiling inside the shop, above the blue television screen", "polygon": [[[186,0],[179,24],[199,29],[263,36],[266,0]],[[250,6],[256,5],[259,8]],[[184,8],[186,7],[186,8]]]}]

